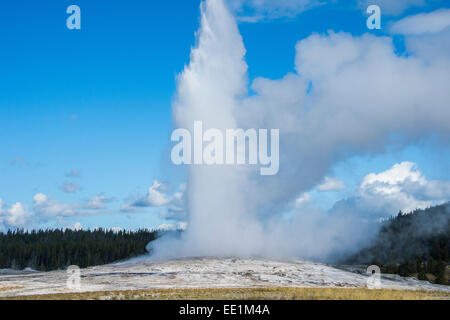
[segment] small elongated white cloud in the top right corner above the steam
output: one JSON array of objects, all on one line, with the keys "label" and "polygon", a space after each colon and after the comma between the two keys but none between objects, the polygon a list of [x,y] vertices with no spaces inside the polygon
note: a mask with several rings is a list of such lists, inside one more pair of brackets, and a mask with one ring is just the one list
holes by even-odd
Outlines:
[{"label": "small elongated white cloud in the top right corner above the steam", "polygon": [[438,33],[450,26],[450,9],[436,10],[406,17],[390,28],[393,34],[420,35]]}]

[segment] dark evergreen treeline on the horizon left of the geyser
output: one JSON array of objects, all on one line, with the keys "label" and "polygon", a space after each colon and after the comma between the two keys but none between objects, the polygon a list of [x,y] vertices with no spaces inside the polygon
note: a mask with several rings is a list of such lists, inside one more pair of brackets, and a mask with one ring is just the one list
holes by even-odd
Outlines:
[{"label": "dark evergreen treeline on the horizon left of the geyser", "polygon": [[15,230],[0,233],[0,268],[49,271],[81,268],[132,258],[146,253],[156,231]]}]

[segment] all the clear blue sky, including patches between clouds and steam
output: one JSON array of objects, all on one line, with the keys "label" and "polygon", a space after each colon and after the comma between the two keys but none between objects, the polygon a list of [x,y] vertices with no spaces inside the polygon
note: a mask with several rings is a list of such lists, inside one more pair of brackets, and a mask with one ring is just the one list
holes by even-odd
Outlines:
[{"label": "all the clear blue sky, including patches between clouds and steam", "polygon": [[[240,23],[250,80],[281,78],[294,71],[295,44],[314,32],[368,32],[367,15],[351,2],[335,2],[291,16]],[[66,8],[81,8],[82,29],[66,28]],[[199,25],[200,1],[8,1],[0,5],[0,198],[33,211],[42,193],[60,203],[104,195],[102,214],[39,221],[37,227],[155,227],[170,223],[160,208],[121,212],[154,180],[170,192],[185,171],[169,164],[171,104],[176,75],[189,62]],[[435,1],[398,15],[450,7]],[[243,15],[245,12],[236,12]],[[370,31],[381,36],[381,31]],[[394,37],[403,54],[403,37]],[[381,155],[353,156],[330,173],[346,189],[312,191],[322,207],[350,197],[361,179],[411,161],[429,180],[450,180],[450,153],[421,141]],[[68,175],[78,170],[79,177]],[[67,193],[64,182],[82,189]]]}]

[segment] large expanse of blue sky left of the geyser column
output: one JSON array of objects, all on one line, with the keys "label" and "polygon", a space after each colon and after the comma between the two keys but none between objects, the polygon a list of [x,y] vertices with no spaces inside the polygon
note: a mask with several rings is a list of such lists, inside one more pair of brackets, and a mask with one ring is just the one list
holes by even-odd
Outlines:
[{"label": "large expanse of blue sky left of the geyser column", "polygon": [[[71,2],[2,4],[4,201],[29,202],[36,191],[64,201],[104,192],[121,201],[159,178],[175,74],[189,57],[198,3],[151,3],[79,1],[80,31],[66,28]],[[75,168],[83,192],[66,195],[58,187]]]}]

